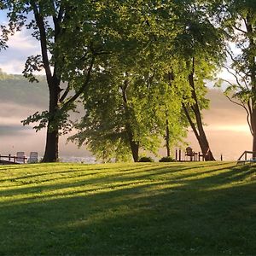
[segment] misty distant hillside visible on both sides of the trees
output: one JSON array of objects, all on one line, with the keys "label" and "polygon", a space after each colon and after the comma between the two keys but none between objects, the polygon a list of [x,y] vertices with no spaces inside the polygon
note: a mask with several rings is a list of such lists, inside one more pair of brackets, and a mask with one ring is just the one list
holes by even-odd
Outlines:
[{"label": "misty distant hillside visible on both sides of the trees", "polygon": [[[0,104],[9,103],[23,108],[33,107],[34,110],[47,109],[48,86],[44,76],[39,76],[37,79],[39,83],[29,83],[21,75],[9,75],[2,73],[0,69]],[[210,100],[210,109],[204,111],[206,123],[212,123],[212,119],[223,123],[229,122],[230,119],[234,123],[244,119],[243,109],[231,103],[221,90],[209,89],[207,97]],[[82,110],[82,108],[79,109]]]}]

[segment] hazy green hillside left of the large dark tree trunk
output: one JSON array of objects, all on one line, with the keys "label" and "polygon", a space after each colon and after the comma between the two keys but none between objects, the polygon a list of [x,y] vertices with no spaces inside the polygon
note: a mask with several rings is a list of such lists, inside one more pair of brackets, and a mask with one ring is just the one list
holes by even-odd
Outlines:
[{"label": "hazy green hillside left of the large dark tree trunk", "polygon": [[48,90],[44,76],[39,83],[29,83],[21,75],[8,75],[0,72],[0,102],[13,102],[19,105],[48,106]]}]

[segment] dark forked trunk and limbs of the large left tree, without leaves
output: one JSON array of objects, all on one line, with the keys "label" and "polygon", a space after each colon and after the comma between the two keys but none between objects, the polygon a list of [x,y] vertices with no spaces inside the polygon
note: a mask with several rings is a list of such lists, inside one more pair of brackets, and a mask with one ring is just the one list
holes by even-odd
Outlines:
[{"label": "dark forked trunk and limbs of the large left tree, without leaves", "polygon": [[[58,67],[62,65],[60,61],[55,61],[52,66],[54,67],[54,71],[51,71],[51,65],[49,61],[49,51],[48,51],[48,42],[47,42],[47,25],[44,21],[44,14],[41,13],[40,4],[36,4],[32,2],[32,9],[34,12],[34,17],[37,22],[38,30],[40,33],[40,44],[41,44],[41,53],[42,59],[44,63],[44,70],[46,74],[47,84],[49,88],[49,120],[47,125],[47,135],[46,135],[46,145],[43,162],[55,162],[59,157],[59,131],[61,129],[59,115],[61,113],[65,113],[68,110],[68,107],[75,102],[79,96],[84,92],[85,87],[88,86],[90,82],[90,75],[92,72],[92,67],[95,61],[95,55],[93,53],[90,65],[87,70],[86,78],[84,79],[84,83],[81,84],[81,87],[78,91],[74,93],[72,97],[68,99],[67,102],[64,100],[67,98],[67,94],[70,91],[69,85],[67,85],[67,90],[64,91],[62,96],[61,93],[61,74],[58,74]],[[55,6],[53,5],[53,9]],[[61,5],[58,14],[53,14],[52,18],[54,21],[55,27],[55,36],[54,36],[54,44],[57,44],[61,41],[61,35],[63,31],[61,31],[61,22],[63,21],[64,9]],[[56,58],[57,59],[57,58]],[[59,105],[62,104],[60,108]]]}]

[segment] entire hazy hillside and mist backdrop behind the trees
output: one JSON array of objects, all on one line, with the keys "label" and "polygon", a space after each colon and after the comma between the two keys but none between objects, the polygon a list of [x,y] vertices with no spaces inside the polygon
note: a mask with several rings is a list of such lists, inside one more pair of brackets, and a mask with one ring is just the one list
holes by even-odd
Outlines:
[{"label": "entire hazy hillside and mist backdrop behind the trees", "polygon": [[[44,76],[40,83],[29,83],[21,75],[7,75],[0,71],[0,154],[16,151],[37,150],[44,154],[45,131],[35,133],[31,126],[23,127],[20,120],[36,111],[48,109],[48,88]],[[231,103],[221,90],[212,89],[207,93],[210,109],[203,111],[207,137],[217,159],[235,160],[241,152],[251,148],[252,137],[248,131],[246,113]],[[80,115],[84,114],[80,108]],[[79,114],[73,113],[73,119]],[[61,155],[89,155],[73,143],[66,144],[67,137],[61,137]],[[200,151],[195,135],[189,130],[189,145]],[[166,154],[163,149],[163,155]]]}]

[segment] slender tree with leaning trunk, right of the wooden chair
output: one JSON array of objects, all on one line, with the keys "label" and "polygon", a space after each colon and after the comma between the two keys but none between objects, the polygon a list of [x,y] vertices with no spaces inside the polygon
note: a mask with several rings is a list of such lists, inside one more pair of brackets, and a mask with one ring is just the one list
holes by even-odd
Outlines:
[{"label": "slender tree with leaning trunk, right of the wooden chair", "polygon": [[[183,110],[200,144],[206,160],[214,160],[206,133],[203,128],[201,110],[207,108],[206,79],[224,60],[223,37],[218,28],[213,26],[206,5],[200,1],[188,1],[176,6],[178,27],[177,35],[170,40],[171,54],[177,60],[177,67],[172,65],[172,79],[180,79],[184,84]],[[178,75],[177,73],[183,73]],[[187,85],[185,85],[187,84]]]}]

